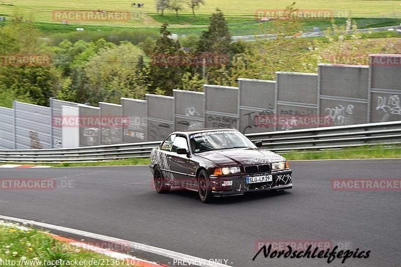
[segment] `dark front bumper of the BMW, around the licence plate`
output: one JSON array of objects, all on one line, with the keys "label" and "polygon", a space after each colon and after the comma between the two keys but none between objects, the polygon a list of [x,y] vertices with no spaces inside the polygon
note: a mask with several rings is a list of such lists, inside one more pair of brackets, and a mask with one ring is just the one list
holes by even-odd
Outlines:
[{"label": "dark front bumper of the BMW, around the licence plate", "polygon": [[[272,175],[273,179],[271,182],[260,182],[251,184],[246,183],[246,177],[250,177],[253,175],[241,175],[241,176],[219,177],[219,178],[211,177],[212,193],[215,196],[226,196],[226,195],[241,195],[246,192],[253,192],[253,191],[265,191],[265,190],[280,191],[292,188],[293,185],[292,185],[291,169],[274,171],[263,175],[268,175],[268,174]],[[231,185],[226,186],[225,183],[226,184],[229,183]]]}]

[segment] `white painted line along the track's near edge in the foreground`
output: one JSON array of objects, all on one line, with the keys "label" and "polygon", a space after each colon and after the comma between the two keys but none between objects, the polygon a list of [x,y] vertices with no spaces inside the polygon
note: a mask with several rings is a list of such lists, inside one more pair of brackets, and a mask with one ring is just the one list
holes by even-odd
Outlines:
[{"label": "white painted line along the track's near edge in the foreground", "polygon": [[[199,262],[200,264],[196,264],[197,266],[231,267],[230,265],[220,264],[220,263],[216,263],[216,262],[210,263],[209,259],[205,259],[205,258],[199,258],[199,257],[183,254],[180,252],[175,252],[172,250],[168,250],[168,249],[164,249],[164,248],[160,248],[160,247],[156,247],[156,246],[145,245],[142,243],[123,240],[123,239],[119,239],[119,238],[115,238],[115,237],[111,237],[111,236],[107,236],[107,235],[102,235],[102,234],[97,234],[97,233],[81,231],[81,230],[68,228],[68,227],[64,227],[64,226],[58,226],[58,225],[53,225],[53,224],[48,224],[48,223],[43,223],[43,222],[38,222],[38,221],[33,221],[33,220],[26,220],[26,219],[21,219],[21,218],[14,218],[14,217],[9,217],[9,216],[4,216],[4,215],[0,215],[0,219],[17,221],[17,222],[22,222],[22,223],[26,222],[28,224],[33,224],[33,225],[48,228],[48,229],[68,232],[68,233],[77,234],[77,235],[90,237],[90,238],[95,238],[95,239],[103,240],[103,241],[126,242],[126,243],[129,243],[129,245],[131,247],[135,247],[136,249],[150,252],[153,254],[157,254],[160,256],[165,256],[165,257],[172,258],[172,259],[174,259],[174,258],[186,259],[186,260],[190,260],[191,262]],[[204,262],[204,264],[201,262]]]}]

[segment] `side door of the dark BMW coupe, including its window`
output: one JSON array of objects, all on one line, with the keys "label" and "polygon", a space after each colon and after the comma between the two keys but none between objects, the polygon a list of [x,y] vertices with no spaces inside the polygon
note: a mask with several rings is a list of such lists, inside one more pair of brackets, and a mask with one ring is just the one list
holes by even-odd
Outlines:
[{"label": "side door of the dark BMW coupe, including its window", "polygon": [[177,154],[178,148],[184,148],[184,149],[186,149],[187,152],[189,152],[186,137],[183,135],[175,136],[174,141],[171,146],[169,162],[170,162],[170,170],[174,175],[177,185],[187,184],[187,183],[189,183],[189,181],[188,181],[188,157],[187,157],[187,155]]}]

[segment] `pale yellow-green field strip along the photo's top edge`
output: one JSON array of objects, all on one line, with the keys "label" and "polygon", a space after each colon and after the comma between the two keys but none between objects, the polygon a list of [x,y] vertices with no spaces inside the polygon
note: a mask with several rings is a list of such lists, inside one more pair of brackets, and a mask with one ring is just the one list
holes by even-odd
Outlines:
[{"label": "pale yellow-green field strip along the photo's top edge", "polygon": [[[38,0],[7,0],[0,1],[0,14],[12,16],[12,14],[21,14],[25,17],[31,17],[37,21],[51,22],[52,12],[55,10],[105,10],[105,11],[126,11],[132,13],[147,13],[154,14],[155,1],[141,0],[144,4],[143,8],[133,8],[131,3],[135,1],[122,0],[58,0],[58,1],[38,1]],[[196,13],[199,17],[202,15],[209,16],[216,8],[220,8],[226,16],[249,17],[254,19],[256,10],[276,10],[284,9],[292,4],[290,1],[272,1],[272,0],[206,0],[206,5],[200,7]],[[337,17],[401,17],[401,1],[371,1],[371,0],[299,0],[296,1],[298,9],[307,10],[331,10],[334,16]],[[191,10],[186,4],[181,14],[191,14]],[[166,13],[174,14],[172,11]],[[111,23],[111,22],[110,22]],[[128,24],[158,24],[157,20],[152,15],[146,15],[141,18],[136,18]],[[122,24],[115,22],[114,24]],[[124,23],[127,24],[127,23]],[[177,23],[180,24],[180,23]]]}]

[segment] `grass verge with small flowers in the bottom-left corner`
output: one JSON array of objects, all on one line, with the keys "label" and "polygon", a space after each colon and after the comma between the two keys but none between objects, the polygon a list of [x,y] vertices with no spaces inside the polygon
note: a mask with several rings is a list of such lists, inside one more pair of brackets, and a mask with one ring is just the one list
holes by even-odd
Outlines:
[{"label": "grass verge with small flowers in the bottom-left corner", "polygon": [[[115,258],[61,242],[34,228],[0,221],[1,266],[50,266],[46,262],[57,262],[60,259],[70,264],[57,266],[92,267],[97,266],[95,260],[107,262],[107,266],[112,267],[122,264]],[[127,263],[124,262],[124,265]]]}]

